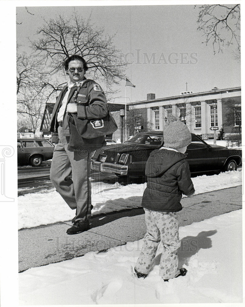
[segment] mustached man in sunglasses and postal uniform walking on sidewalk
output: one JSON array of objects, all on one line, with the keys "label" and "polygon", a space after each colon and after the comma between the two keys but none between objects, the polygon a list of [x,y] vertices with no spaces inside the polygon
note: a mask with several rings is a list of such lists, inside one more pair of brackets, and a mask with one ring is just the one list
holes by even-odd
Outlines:
[{"label": "mustached man in sunglasses and postal uniform walking on sidewalk", "polygon": [[[76,209],[73,226],[67,229],[68,235],[74,235],[90,229],[90,153],[105,145],[105,138],[85,139],[77,131],[70,130],[68,113],[76,114],[78,119],[103,118],[108,114],[108,106],[100,85],[85,78],[88,67],[82,56],[70,56],[65,60],[64,67],[70,81],[56,100],[50,122],[49,130],[54,133],[53,137],[58,133],[50,179],[68,206]],[[76,144],[79,144],[79,148],[76,148]]]}]

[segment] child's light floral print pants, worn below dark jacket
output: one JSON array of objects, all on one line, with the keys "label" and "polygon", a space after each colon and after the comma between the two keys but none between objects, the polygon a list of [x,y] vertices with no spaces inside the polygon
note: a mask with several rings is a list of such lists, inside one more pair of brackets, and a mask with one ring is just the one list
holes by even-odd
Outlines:
[{"label": "child's light floral print pants, worn below dark jacket", "polygon": [[135,269],[143,274],[151,270],[157,247],[163,243],[160,260],[160,276],[174,278],[179,274],[177,250],[180,247],[176,212],[158,212],[144,208],[147,233]]}]

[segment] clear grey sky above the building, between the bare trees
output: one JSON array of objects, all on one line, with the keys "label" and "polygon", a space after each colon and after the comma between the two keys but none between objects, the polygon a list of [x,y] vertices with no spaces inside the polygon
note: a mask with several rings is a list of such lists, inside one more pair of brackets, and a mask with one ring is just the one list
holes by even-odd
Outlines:
[{"label": "clear grey sky above the building, between the bare trees", "polygon": [[[31,14],[25,7],[17,7],[16,19],[21,23],[17,24],[17,42],[21,49],[30,50],[28,37],[36,39],[44,19],[59,14],[74,18],[74,7],[84,19],[91,15],[94,27],[104,27],[110,35],[116,33],[114,45],[122,51],[121,58],[132,63],[127,66],[126,76],[136,85],[126,87],[127,102],[146,100],[147,93],[155,93],[156,98],[179,95],[186,90],[186,82],[193,92],[241,85],[240,64],[231,50],[225,47],[223,53],[214,55],[212,45],[202,43],[205,38],[197,31],[199,9],[192,4],[28,6]],[[124,103],[124,80],[116,89],[116,97],[121,98],[110,102]]]}]

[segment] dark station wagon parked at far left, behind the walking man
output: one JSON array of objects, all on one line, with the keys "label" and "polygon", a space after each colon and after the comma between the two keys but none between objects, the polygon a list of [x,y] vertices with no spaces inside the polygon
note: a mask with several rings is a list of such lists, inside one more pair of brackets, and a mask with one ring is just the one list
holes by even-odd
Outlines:
[{"label": "dark station wagon parked at far left, behind the walking man", "polygon": [[39,166],[42,161],[52,159],[54,145],[43,138],[21,138],[17,140],[18,164]]}]

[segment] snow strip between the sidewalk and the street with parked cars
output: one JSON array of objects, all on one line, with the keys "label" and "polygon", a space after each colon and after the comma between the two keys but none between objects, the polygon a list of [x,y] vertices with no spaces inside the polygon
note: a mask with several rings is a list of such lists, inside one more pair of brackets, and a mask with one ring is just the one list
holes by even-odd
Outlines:
[{"label": "snow strip between the sidewalk and the street with parked cars", "polygon": [[[212,176],[192,178],[196,194],[231,188],[242,184],[241,171],[229,171]],[[92,215],[141,207],[146,183],[120,185],[91,182]],[[18,197],[19,229],[64,222],[74,217],[74,211],[56,191],[42,190]]]}]

